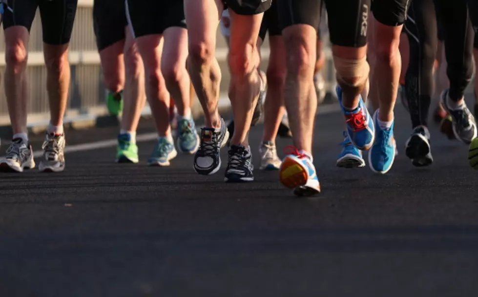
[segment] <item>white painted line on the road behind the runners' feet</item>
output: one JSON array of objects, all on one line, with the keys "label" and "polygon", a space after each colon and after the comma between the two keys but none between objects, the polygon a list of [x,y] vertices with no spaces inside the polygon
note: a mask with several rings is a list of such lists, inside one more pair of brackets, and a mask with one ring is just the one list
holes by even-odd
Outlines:
[{"label": "white painted line on the road behind the runners' feet", "polygon": [[[229,104],[229,98],[221,98],[219,102],[219,106],[226,106]],[[325,106],[318,106],[317,108],[317,114],[328,114],[332,112],[337,112],[340,110],[340,107],[338,104],[330,104],[330,105],[325,105]],[[145,141],[151,141],[154,140],[158,137],[158,133],[156,132],[151,132],[151,133],[145,133],[145,134],[139,134],[136,136],[136,142],[145,142]],[[65,148],[65,153],[71,153],[71,152],[78,152],[78,151],[87,151],[87,150],[92,150],[92,149],[99,149],[99,148],[111,148],[114,147],[118,144],[117,139],[109,139],[109,140],[102,140],[102,141],[96,141],[96,142],[90,142],[90,143],[84,143],[84,144],[78,144],[78,145],[71,145],[67,146]],[[33,152],[33,156],[35,158],[41,157],[43,154],[43,150],[37,150]]]}]

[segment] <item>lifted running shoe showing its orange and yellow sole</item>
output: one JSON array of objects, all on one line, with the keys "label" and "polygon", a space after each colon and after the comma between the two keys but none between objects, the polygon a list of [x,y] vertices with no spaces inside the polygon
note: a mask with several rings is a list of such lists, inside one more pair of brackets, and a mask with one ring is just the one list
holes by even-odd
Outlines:
[{"label": "lifted running shoe showing its orange and yellow sole", "polygon": [[280,182],[293,189],[296,196],[312,196],[320,192],[320,183],[311,159],[292,146],[284,150],[288,154],[279,169]]}]

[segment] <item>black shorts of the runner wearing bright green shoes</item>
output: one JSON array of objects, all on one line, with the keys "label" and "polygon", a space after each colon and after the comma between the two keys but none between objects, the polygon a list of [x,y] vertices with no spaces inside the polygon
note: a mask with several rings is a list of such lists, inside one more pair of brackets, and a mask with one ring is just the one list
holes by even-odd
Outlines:
[{"label": "black shorts of the runner wearing bright green shoes", "polygon": [[125,4],[118,0],[95,0],[93,4],[93,29],[98,51],[125,39]]}]

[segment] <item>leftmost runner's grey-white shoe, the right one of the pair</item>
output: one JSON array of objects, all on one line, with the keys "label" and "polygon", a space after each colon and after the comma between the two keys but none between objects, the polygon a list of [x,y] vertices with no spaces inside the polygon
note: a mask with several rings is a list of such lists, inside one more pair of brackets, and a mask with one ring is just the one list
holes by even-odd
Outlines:
[{"label": "leftmost runner's grey-white shoe, the right one of the pair", "polygon": [[43,142],[43,156],[38,165],[42,172],[61,172],[65,169],[65,135],[46,133]]}]

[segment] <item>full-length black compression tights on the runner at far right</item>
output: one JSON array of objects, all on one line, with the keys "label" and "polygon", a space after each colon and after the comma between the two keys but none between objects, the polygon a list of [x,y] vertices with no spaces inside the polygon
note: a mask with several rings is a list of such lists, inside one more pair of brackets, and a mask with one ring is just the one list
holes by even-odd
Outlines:
[{"label": "full-length black compression tights on the runner at far right", "polygon": [[436,14],[445,35],[450,99],[463,97],[473,75],[474,32],[466,0],[413,0],[404,26],[410,43],[405,89],[413,127],[427,126],[437,44]]}]

